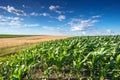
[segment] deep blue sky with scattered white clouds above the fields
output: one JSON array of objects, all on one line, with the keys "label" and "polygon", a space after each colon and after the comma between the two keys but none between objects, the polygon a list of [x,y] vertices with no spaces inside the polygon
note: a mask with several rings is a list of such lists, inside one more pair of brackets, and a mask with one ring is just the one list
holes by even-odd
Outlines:
[{"label": "deep blue sky with scattered white clouds above the fields", "polygon": [[0,34],[120,34],[120,0],[0,0]]}]

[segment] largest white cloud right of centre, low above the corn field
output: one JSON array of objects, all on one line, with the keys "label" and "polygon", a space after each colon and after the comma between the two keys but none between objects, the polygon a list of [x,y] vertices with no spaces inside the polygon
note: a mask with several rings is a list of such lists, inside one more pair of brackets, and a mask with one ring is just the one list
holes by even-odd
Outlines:
[{"label": "largest white cloud right of centre, low above the corn field", "polygon": [[76,19],[73,18],[68,24],[71,25],[71,31],[82,31],[91,26],[94,26],[95,23],[99,22],[97,19]]}]

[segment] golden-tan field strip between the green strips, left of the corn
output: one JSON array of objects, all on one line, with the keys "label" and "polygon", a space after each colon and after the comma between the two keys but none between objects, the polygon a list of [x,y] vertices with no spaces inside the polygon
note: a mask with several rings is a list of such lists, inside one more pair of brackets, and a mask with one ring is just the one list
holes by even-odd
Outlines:
[{"label": "golden-tan field strip between the green strips, left of the corn", "polygon": [[0,48],[12,47],[24,44],[32,44],[37,42],[64,39],[68,36],[29,36],[29,37],[17,37],[17,38],[1,38],[0,39]]}]

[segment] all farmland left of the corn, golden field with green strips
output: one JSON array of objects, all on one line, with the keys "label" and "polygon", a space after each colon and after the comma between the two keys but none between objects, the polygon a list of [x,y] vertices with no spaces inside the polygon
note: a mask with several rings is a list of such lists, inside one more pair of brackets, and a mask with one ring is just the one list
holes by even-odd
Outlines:
[{"label": "all farmland left of the corn, golden field with green strips", "polygon": [[63,39],[68,36],[0,35],[0,56],[7,56],[39,42]]}]

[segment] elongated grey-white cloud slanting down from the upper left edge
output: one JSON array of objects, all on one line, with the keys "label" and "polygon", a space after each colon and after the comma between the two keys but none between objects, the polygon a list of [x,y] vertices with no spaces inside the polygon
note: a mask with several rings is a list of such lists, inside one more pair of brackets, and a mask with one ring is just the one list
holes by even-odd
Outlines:
[{"label": "elongated grey-white cloud slanting down from the upper left edge", "polygon": [[18,10],[18,9],[15,9],[14,7],[12,6],[7,6],[7,7],[4,7],[4,6],[0,6],[1,9],[4,9],[10,13],[14,13],[16,15],[22,15],[22,16],[26,16],[26,13],[22,10]]}]

